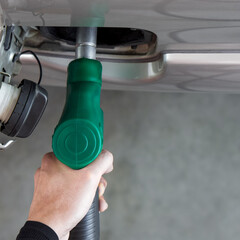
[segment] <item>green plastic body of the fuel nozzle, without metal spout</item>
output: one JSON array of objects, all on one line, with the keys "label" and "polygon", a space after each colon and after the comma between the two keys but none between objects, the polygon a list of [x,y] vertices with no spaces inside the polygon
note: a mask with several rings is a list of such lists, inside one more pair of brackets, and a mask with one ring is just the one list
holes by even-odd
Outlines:
[{"label": "green plastic body of the fuel nozzle, without metal spout", "polygon": [[66,103],[52,137],[52,148],[56,157],[72,169],[84,168],[102,150],[101,86],[99,61],[81,58],[69,64]]}]

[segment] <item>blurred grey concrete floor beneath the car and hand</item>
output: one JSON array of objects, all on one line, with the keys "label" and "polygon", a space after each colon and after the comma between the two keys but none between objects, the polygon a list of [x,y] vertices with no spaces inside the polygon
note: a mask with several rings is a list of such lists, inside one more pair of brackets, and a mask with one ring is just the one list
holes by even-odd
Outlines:
[{"label": "blurred grey concrete floor beneath the car and hand", "polygon": [[[0,239],[15,239],[33,175],[51,150],[65,90],[28,139],[1,152]],[[237,240],[240,236],[240,95],[103,92],[109,210],[103,240]]]}]

